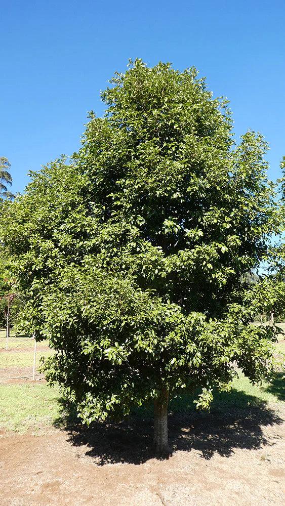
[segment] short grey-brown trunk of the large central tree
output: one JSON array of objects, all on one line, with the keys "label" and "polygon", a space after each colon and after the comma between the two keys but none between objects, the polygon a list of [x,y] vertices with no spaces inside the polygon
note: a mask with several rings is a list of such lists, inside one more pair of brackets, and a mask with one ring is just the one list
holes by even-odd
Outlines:
[{"label": "short grey-brown trunk of the large central tree", "polygon": [[160,396],[154,399],[153,449],[157,455],[161,456],[172,453],[168,444],[168,397],[168,390],[162,388]]}]

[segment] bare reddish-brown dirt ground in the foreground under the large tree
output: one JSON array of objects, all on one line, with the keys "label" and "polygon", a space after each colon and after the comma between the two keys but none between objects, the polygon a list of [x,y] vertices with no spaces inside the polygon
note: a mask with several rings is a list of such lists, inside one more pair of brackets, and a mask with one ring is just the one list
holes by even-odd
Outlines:
[{"label": "bare reddish-brown dirt ground in the foreground under the large tree", "polygon": [[[283,413],[284,414],[284,413]],[[282,413],[268,405],[170,419],[169,459],[151,423],[0,437],[2,506],[283,506]]]}]

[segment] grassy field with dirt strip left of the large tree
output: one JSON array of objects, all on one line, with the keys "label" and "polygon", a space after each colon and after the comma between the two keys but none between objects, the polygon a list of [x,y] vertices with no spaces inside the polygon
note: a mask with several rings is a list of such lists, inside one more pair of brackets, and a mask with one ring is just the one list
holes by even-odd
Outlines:
[{"label": "grassy field with dirt strip left of the large tree", "polygon": [[[36,345],[36,369],[40,358],[53,352],[47,341]],[[32,381],[34,340],[0,330],[0,428],[26,432],[52,426],[59,412],[59,389],[50,388],[36,370]]]}]

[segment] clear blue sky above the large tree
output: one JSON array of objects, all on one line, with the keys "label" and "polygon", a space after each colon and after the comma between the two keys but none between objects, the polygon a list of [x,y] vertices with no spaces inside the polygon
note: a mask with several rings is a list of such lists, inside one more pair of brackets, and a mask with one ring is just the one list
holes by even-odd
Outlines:
[{"label": "clear blue sky above the large tree", "polygon": [[195,65],[227,96],[239,136],[270,143],[270,177],[285,154],[284,0],[0,0],[0,155],[14,191],[29,170],[79,147],[87,111],[129,58]]}]

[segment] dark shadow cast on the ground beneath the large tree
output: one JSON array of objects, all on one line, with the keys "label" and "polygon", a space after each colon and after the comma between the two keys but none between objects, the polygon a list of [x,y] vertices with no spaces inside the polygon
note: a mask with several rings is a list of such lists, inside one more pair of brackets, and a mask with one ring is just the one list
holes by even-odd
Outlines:
[{"label": "dark shadow cast on the ground beneath the large tree", "polygon": [[[215,453],[229,457],[236,449],[258,449],[272,445],[263,432],[264,426],[281,424],[278,413],[266,402],[244,392],[223,394],[210,412],[197,412],[191,399],[182,399],[184,410],[170,412],[169,440],[174,451],[197,450],[211,459]],[[233,402],[234,401],[234,402]],[[56,425],[68,433],[68,441],[78,448],[79,457],[88,455],[97,465],[128,462],[140,464],[155,455],[151,449],[153,421],[149,412],[137,412],[120,423],[94,423],[90,428],[75,423],[73,406],[62,399],[62,418]],[[236,405],[238,407],[236,407]],[[274,444],[274,443],[273,443]]]}]

